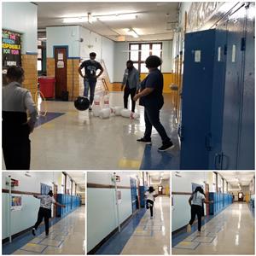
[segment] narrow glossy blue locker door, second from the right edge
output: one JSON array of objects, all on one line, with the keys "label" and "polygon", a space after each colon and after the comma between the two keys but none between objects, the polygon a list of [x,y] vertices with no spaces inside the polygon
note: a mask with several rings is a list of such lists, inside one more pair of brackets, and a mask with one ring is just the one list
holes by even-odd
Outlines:
[{"label": "narrow glossy blue locker door, second from the right edge", "polygon": [[241,111],[241,39],[244,37],[246,9],[241,7],[228,21],[227,65],[224,94],[223,153],[221,169],[237,168]]}]

